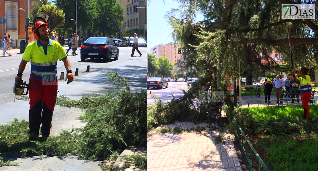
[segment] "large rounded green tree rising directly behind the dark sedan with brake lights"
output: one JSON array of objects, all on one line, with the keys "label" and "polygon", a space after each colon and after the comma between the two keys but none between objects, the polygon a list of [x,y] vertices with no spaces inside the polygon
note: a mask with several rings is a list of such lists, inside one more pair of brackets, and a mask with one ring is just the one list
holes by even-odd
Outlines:
[{"label": "large rounded green tree rising directly behind the dark sedan with brake lights", "polygon": [[96,0],[98,17],[94,20],[94,29],[103,37],[113,37],[120,31],[125,21],[124,7],[116,0]]}]

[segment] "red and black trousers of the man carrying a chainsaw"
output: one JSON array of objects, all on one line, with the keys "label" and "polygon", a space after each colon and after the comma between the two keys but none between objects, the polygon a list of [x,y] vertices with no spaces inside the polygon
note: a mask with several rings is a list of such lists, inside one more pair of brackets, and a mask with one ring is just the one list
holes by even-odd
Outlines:
[{"label": "red and black trousers of the man carrying a chainsaw", "polygon": [[50,128],[52,127],[52,116],[56,102],[57,89],[58,79],[56,79],[55,84],[45,84],[45,82],[30,77],[30,134],[35,133],[39,135],[39,128],[42,123],[42,136],[48,137],[50,135]]}]

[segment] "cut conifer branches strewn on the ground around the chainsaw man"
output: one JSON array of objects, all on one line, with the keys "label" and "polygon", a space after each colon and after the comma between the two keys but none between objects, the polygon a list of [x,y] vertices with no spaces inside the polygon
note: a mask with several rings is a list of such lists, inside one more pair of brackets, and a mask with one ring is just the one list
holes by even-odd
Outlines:
[{"label": "cut conifer branches strewn on the ground around the chainsaw man", "polygon": [[[109,75],[112,79],[120,77],[116,72]],[[98,97],[83,96],[79,101],[70,101],[62,95],[57,104],[86,110],[80,116],[86,122],[83,128],[63,130],[59,136],[51,136],[45,142],[29,141],[29,123],[14,119],[9,125],[0,125],[0,153],[77,155],[80,159],[94,160],[108,159],[127,145],[146,147],[146,101],[146,91],[130,92],[128,85],[126,89],[107,91]]]}]

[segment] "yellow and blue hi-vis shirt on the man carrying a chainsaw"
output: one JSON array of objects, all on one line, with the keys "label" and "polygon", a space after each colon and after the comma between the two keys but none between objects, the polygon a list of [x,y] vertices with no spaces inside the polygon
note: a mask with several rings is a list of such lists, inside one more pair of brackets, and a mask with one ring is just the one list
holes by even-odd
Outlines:
[{"label": "yellow and blue hi-vis shirt on the man carrying a chainsaw", "polygon": [[49,82],[47,75],[58,77],[57,62],[67,58],[63,47],[55,40],[49,40],[48,46],[44,46],[39,40],[26,46],[22,60],[29,62],[31,60],[30,77],[40,81]]}]

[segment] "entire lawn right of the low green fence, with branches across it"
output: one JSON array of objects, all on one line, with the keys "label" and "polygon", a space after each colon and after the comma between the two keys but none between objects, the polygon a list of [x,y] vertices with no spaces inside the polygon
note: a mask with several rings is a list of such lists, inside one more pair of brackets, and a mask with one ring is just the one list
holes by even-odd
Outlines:
[{"label": "entire lawn right of the low green fence, with branches across it", "polygon": [[252,116],[247,133],[259,135],[256,139],[252,136],[250,141],[263,154],[268,168],[274,171],[318,170],[318,104],[309,105],[307,121],[301,119],[302,105],[242,110]]}]

